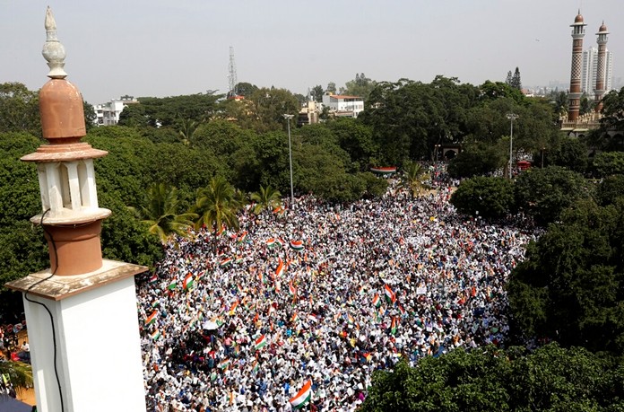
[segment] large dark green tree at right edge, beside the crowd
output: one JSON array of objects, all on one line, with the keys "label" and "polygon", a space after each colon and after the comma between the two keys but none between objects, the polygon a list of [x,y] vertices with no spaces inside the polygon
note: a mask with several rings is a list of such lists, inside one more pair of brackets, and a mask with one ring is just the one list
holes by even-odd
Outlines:
[{"label": "large dark green tree at right edge, beside the crowd", "polygon": [[512,331],[621,356],[624,350],[624,201],[577,202],[529,244],[507,295]]}]

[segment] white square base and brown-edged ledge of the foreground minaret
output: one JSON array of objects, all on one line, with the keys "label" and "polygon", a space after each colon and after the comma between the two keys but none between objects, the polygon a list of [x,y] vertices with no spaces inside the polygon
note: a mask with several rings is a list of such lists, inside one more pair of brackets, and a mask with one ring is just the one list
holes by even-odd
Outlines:
[{"label": "white square base and brown-edged ledge of the foreground minaret", "polygon": [[[29,299],[52,313],[65,412],[146,410],[137,270],[144,267],[104,260],[102,269],[91,274],[53,276],[37,284],[50,275],[47,270],[8,285],[22,292],[34,285]],[[38,410],[61,412],[50,317],[38,303],[24,299],[24,308]]]}]

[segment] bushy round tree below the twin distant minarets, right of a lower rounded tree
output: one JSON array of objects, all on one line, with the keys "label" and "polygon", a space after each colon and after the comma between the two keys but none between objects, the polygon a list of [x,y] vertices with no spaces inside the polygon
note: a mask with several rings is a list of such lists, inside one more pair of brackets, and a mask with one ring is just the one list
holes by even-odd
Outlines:
[{"label": "bushy round tree below the twin distant minarets, right of a lower rounded tree", "polygon": [[589,195],[583,176],[559,166],[531,169],[516,179],[516,205],[537,224],[555,222],[565,208]]}]

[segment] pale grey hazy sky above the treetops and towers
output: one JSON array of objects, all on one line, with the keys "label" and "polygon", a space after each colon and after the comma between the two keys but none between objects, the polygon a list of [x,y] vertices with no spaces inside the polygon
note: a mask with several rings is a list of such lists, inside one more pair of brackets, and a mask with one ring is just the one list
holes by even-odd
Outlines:
[{"label": "pale grey hazy sky above the treetops and towers", "polygon": [[0,0],[0,83],[37,90],[48,80],[40,54],[48,4],[68,79],[92,104],[227,92],[230,46],[239,82],[303,94],[356,73],[481,84],[516,66],[524,86],[569,84],[579,7],[584,48],[604,20],[614,83],[624,77],[623,0]]}]

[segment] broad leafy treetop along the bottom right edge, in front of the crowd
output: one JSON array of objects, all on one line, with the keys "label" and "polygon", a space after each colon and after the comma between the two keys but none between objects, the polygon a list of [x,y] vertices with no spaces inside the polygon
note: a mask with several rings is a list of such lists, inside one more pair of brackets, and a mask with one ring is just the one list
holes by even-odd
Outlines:
[{"label": "broad leafy treetop along the bottom right edge, in front of the crowd", "polygon": [[624,408],[621,373],[583,348],[455,349],[376,371],[360,410],[615,411]]}]

